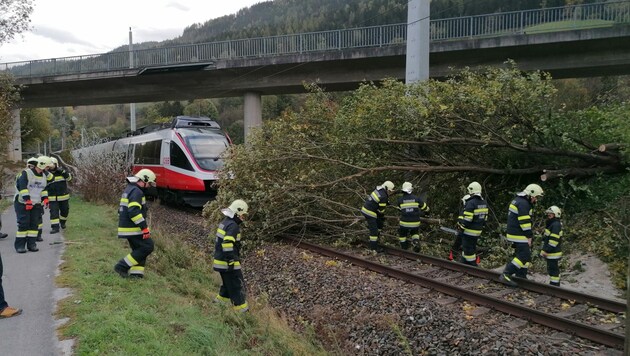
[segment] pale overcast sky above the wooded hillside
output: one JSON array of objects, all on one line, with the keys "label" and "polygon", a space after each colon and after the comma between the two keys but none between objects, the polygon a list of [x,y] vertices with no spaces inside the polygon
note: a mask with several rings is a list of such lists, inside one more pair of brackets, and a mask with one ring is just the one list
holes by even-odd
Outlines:
[{"label": "pale overcast sky above the wooded hillside", "polygon": [[32,30],[0,46],[0,63],[105,53],[133,42],[163,41],[194,23],[265,0],[35,0]]}]

